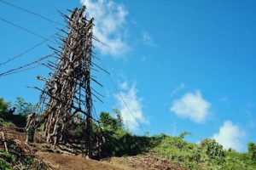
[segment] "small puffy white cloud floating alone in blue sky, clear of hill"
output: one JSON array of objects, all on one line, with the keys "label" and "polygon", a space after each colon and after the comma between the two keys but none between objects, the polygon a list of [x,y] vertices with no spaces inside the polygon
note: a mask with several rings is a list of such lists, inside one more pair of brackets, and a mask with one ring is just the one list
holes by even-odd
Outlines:
[{"label": "small puffy white cloud floating alone in blue sky, clear of hill", "polygon": [[189,118],[194,122],[203,122],[210,115],[211,104],[202,98],[200,91],[184,94],[172,102],[170,111],[177,116]]}]

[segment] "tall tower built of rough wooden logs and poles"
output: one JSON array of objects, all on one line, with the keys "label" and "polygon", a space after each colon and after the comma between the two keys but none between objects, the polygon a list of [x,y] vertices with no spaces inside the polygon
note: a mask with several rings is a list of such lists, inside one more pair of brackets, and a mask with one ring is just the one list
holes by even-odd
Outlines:
[{"label": "tall tower built of rough wooden logs and poles", "polygon": [[[61,49],[54,49],[58,54],[57,64],[49,63],[54,73],[44,80],[41,105],[44,105],[44,134],[47,142],[54,143],[61,139],[67,123],[76,113],[81,113],[85,123],[85,155],[92,156],[92,98],[90,82],[96,81],[91,76],[92,64],[92,28],[93,18],[87,20],[85,7],[75,8],[72,14],[63,14],[68,31],[67,37],[61,37]],[[63,31],[63,30],[62,30]]]}]

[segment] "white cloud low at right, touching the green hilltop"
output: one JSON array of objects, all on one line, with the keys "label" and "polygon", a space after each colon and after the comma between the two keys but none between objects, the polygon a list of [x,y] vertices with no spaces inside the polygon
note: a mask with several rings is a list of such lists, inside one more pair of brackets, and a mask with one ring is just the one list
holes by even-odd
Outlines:
[{"label": "white cloud low at right, touching the green hilltop", "polygon": [[240,127],[231,121],[225,121],[224,124],[219,127],[218,133],[213,134],[212,139],[215,139],[219,144],[222,144],[224,149],[232,148],[241,151],[241,139],[244,136],[245,133]]}]

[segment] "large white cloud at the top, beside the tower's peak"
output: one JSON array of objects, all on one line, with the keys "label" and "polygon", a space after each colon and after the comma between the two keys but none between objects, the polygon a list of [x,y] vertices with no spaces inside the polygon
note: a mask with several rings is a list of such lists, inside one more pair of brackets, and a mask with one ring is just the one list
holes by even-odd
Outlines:
[{"label": "large white cloud at the top, beside the tower's peak", "polygon": [[102,54],[111,54],[119,58],[128,50],[124,40],[125,17],[128,12],[119,4],[111,0],[80,0],[87,8],[87,12],[94,20],[95,36],[108,45],[95,42]]}]

